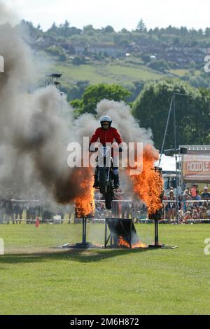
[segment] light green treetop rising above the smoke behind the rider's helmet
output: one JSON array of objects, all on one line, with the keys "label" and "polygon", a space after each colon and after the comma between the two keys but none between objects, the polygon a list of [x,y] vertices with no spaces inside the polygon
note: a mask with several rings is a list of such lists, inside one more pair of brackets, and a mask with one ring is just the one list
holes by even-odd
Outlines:
[{"label": "light green treetop rising above the smoke behind the rider's helmet", "polygon": [[[99,83],[97,85],[88,86],[83,93],[81,100],[74,100],[71,105],[75,107],[80,113],[95,114],[97,103],[103,99],[107,100],[126,100],[130,96],[130,91],[118,84],[108,85],[106,83]],[[80,107],[80,109],[78,109]]]}]

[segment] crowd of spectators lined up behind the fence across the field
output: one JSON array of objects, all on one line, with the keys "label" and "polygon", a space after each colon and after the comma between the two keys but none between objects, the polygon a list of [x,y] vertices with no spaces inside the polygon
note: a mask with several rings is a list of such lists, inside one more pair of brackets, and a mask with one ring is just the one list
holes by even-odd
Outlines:
[{"label": "crowd of spectators lined up behind the fence across the field", "polygon": [[[95,212],[94,219],[102,220],[106,217],[124,217],[133,218],[134,222],[144,222],[148,220],[147,208],[143,202],[132,201],[125,194],[118,190],[115,194],[112,209],[107,210],[102,194],[95,191]],[[176,206],[176,195],[173,187],[169,189],[168,194],[164,194],[164,217],[165,222],[174,222],[176,220],[176,211],[178,210],[178,220],[180,223],[210,221],[210,192],[208,187],[204,187],[200,193],[197,184],[185,189],[179,196],[178,206]],[[42,222],[53,222],[53,218],[59,215],[63,222],[64,215],[69,213],[69,223],[72,217],[66,209],[62,211],[53,211],[50,206],[41,206],[34,200],[30,202],[16,201],[15,199],[0,200],[0,224],[21,224],[25,221],[27,224],[36,222],[36,217],[41,218]],[[23,215],[24,214],[24,215]],[[74,216],[73,216],[74,217]],[[75,219],[76,222],[76,219]]]}]

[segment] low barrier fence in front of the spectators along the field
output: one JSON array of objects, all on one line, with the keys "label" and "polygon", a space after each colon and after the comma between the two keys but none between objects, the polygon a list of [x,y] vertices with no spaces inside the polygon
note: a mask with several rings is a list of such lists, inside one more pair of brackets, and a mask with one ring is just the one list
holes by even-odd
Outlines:
[{"label": "low barrier fence in front of the spectators along the field", "polygon": [[[150,223],[153,220],[148,219],[148,213],[144,203],[133,202],[130,199],[113,200],[112,210],[106,210],[105,200],[95,199],[95,215],[92,222],[103,222],[106,217],[126,217],[133,218],[135,222]],[[204,223],[210,222],[210,200],[186,200],[163,201],[162,223],[176,222],[176,202],[179,203],[179,222],[180,223]],[[38,200],[17,200],[11,199],[0,203],[0,224],[9,224],[10,222],[26,222],[34,224],[38,217],[41,222],[62,224],[63,222],[77,222],[72,218],[73,213],[52,213],[45,206],[41,206]],[[79,222],[79,221],[78,221]]]}]

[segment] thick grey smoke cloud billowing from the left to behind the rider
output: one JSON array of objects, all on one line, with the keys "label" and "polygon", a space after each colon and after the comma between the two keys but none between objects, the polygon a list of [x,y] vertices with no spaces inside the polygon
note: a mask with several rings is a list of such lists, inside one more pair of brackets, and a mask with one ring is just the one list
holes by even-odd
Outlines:
[{"label": "thick grey smoke cloud billowing from the left to behind the rider", "polygon": [[67,166],[69,142],[91,136],[104,114],[112,116],[125,142],[153,145],[152,133],[139,128],[124,102],[102,100],[96,117],[83,114],[73,120],[73,109],[54,86],[29,94],[38,67],[29,47],[7,23],[10,18],[0,2],[0,55],[5,60],[5,73],[0,74],[0,196],[71,203],[83,190],[77,169]]}]

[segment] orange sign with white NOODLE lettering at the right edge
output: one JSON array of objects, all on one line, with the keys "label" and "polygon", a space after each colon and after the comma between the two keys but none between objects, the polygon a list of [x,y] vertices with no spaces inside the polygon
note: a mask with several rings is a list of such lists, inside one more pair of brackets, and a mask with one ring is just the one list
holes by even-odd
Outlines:
[{"label": "orange sign with white NOODLE lettering at the right edge", "polygon": [[183,180],[192,182],[210,182],[209,154],[184,154]]}]

